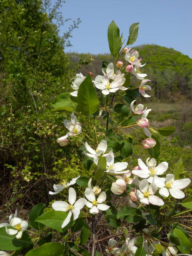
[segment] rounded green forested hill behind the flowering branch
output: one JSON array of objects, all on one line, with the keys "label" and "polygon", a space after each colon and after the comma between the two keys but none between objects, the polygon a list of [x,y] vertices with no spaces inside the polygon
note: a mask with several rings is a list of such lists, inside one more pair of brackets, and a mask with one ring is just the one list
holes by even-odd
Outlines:
[{"label": "rounded green forested hill behind the flowering branch", "polygon": [[[135,47],[139,51],[142,63],[147,63],[142,72],[148,74],[152,81],[153,93],[158,98],[166,98],[170,101],[182,99],[183,96],[192,97],[192,59],[187,55],[155,44],[144,44]],[[70,53],[72,62],[80,59],[93,58],[91,65],[82,65],[78,71],[87,75],[89,71],[93,74],[101,74],[101,60],[111,61],[110,54],[93,55]],[[122,61],[125,60],[122,57]],[[134,82],[133,82],[134,83]]]}]

